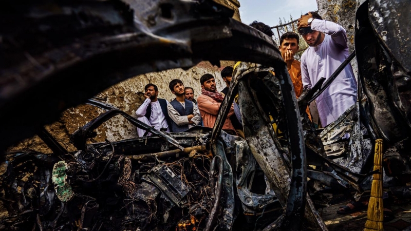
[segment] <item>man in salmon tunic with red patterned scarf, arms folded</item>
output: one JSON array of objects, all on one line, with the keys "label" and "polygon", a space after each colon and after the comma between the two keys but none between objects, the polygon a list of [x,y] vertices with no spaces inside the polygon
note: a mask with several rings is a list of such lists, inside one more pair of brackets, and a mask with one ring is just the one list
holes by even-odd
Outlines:
[{"label": "man in salmon tunic with red patterned scarf, arms folded", "polygon": [[[200,78],[201,94],[197,98],[197,106],[204,123],[204,127],[214,127],[217,120],[218,109],[224,99],[223,95],[217,92],[215,87],[214,76],[211,74],[204,74]],[[234,114],[234,107],[231,105],[230,112],[222,129],[230,129],[235,132],[231,124],[230,117]]]}]

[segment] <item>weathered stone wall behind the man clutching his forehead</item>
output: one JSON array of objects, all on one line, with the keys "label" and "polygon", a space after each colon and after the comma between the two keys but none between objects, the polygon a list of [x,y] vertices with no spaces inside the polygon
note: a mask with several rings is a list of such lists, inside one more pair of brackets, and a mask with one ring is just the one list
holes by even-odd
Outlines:
[{"label": "weathered stone wall behind the man clutching his forehead", "polygon": [[[354,51],[354,32],[356,26],[355,0],[316,0],[318,13],[325,19],[338,23],[347,31],[348,48]],[[357,60],[351,61],[354,74],[357,76]]]}]

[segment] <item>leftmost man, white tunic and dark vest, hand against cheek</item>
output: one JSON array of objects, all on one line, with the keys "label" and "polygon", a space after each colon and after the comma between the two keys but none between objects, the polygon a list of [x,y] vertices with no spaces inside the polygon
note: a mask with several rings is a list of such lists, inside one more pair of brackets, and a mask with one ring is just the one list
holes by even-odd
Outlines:
[{"label": "leftmost man, white tunic and dark vest, hand against cheek", "polygon": [[[137,109],[137,120],[154,127],[156,130],[170,131],[170,117],[167,113],[168,101],[158,99],[158,88],[154,84],[147,84],[144,87],[144,102]],[[137,128],[139,137],[143,137],[145,131]],[[151,133],[148,133],[151,136]]]}]

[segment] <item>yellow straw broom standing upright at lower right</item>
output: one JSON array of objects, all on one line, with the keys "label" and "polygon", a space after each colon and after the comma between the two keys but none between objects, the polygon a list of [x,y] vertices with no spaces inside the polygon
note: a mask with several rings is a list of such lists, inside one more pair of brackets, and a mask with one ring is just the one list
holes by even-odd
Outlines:
[{"label": "yellow straw broom standing upright at lower right", "polygon": [[368,202],[367,222],[365,231],[384,230],[384,204],[382,201],[383,170],[382,170],[382,139],[376,140],[374,155],[374,170],[379,170],[372,175],[371,197]]}]

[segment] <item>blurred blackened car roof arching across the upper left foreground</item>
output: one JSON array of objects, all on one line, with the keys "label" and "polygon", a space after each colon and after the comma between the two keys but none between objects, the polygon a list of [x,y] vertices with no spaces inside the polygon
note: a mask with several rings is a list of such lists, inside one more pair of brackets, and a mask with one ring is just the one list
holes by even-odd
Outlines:
[{"label": "blurred blackened car roof arching across the upper left foreground", "polygon": [[1,124],[0,150],[32,136],[64,109],[138,74],[190,68],[202,60],[281,61],[270,38],[233,20],[232,10],[212,1],[53,4],[72,14],[41,11],[43,2],[2,3],[14,14],[1,14],[1,22],[14,25],[0,25],[5,28],[1,52],[10,57],[0,63],[0,110],[7,111],[0,114],[0,121],[7,121]]}]

